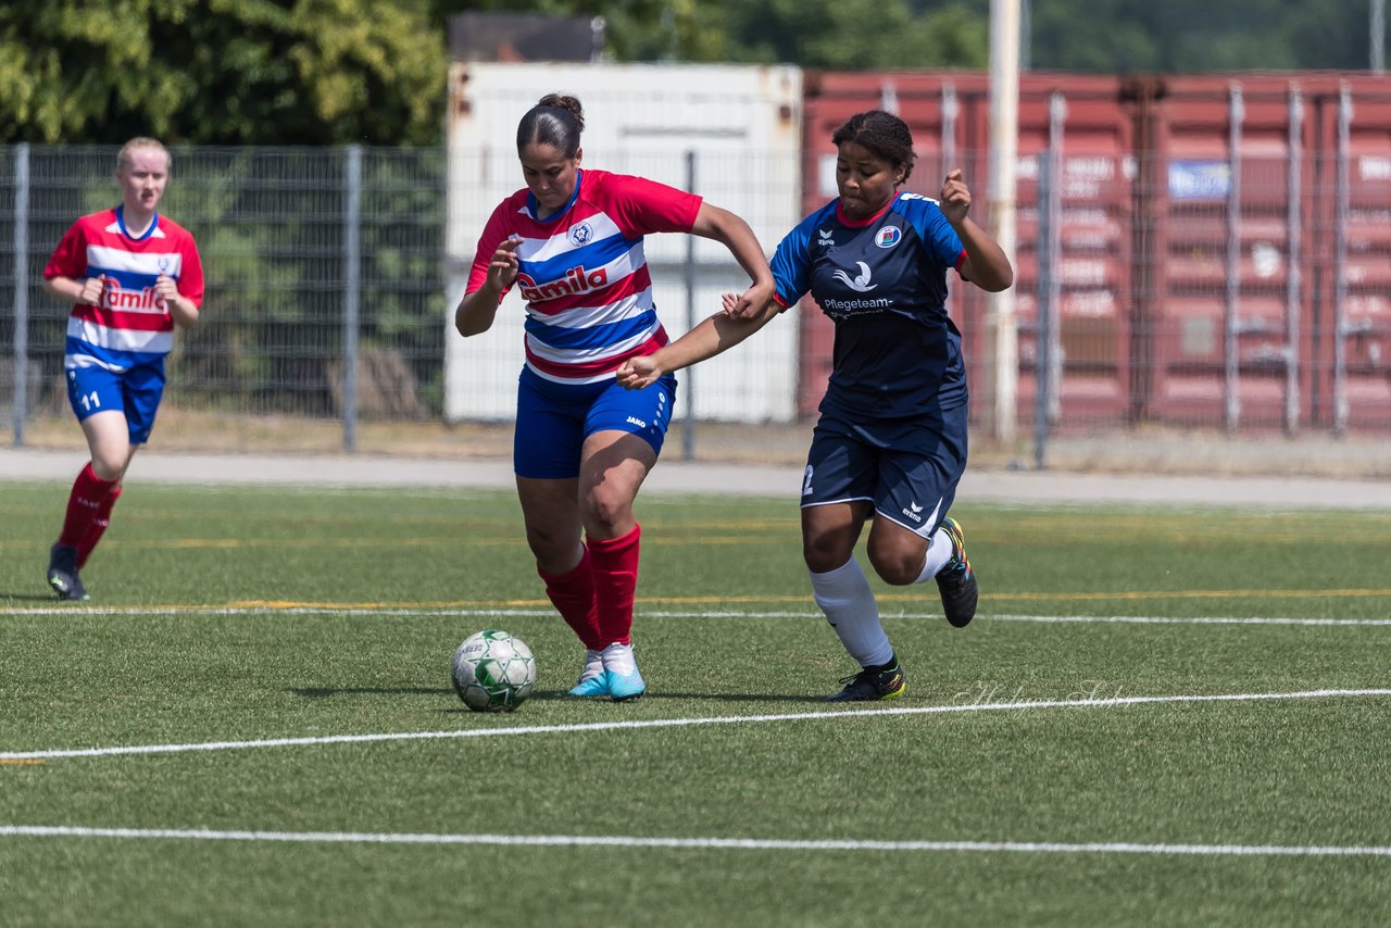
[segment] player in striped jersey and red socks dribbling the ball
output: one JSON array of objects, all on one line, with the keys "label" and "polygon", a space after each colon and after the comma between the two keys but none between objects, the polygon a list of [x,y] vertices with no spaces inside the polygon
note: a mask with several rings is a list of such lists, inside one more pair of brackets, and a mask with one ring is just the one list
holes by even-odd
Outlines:
[{"label": "player in striped jersey and red socks dribbling the ball", "polygon": [[522,117],[526,188],[484,225],[455,327],[465,337],[487,331],[513,287],[526,301],[513,469],[527,544],[547,595],[584,644],[570,696],[623,701],[647,689],[632,640],[641,536],[633,501],[676,399],[670,374],[637,391],[613,377],[668,342],[643,237],[722,242],[751,281],[727,298],[733,312],[766,305],[773,278],[733,213],[640,177],[581,170],[583,128],[572,96],[547,95]]}]

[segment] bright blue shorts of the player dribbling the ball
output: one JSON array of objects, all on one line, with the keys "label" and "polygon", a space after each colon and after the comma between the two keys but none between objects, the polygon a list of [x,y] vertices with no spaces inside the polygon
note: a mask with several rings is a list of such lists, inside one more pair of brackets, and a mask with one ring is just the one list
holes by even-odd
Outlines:
[{"label": "bright blue shorts of the player dribbling the ball", "polygon": [[533,480],[579,477],[580,451],[595,431],[626,431],[662,454],[675,403],[672,374],[644,390],[625,390],[616,380],[555,384],[523,369],[512,467]]}]

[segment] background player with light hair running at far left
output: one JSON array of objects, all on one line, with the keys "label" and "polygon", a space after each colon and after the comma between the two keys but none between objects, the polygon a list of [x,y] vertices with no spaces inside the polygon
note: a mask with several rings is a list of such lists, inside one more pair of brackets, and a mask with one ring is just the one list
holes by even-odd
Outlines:
[{"label": "background player with light hair running at far left", "polygon": [[174,327],[192,327],[203,302],[193,237],[157,211],[170,164],[160,142],[127,142],[115,159],[121,205],[74,223],[43,269],[43,288],[74,303],[63,367],[92,452],[49,552],[49,586],[64,600],[89,598],[78,570],[110,523],[135,451],[149,441]]}]

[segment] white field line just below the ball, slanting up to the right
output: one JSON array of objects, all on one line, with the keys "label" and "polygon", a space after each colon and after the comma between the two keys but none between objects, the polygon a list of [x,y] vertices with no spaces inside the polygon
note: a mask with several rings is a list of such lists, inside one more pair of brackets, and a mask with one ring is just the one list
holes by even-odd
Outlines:
[{"label": "white field line just below the ball, slanting up to the right", "polygon": [[1391,696],[1391,689],[1305,690],[1298,693],[1224,693],[1210,696],[1124,696],[1075,700],[990,700],[956,705],[906,705],[872,710],[829,710],[817,712],[779,712],[772,715],[716,715],[712,718],[666,718],[627,722],[588,722],[577,725],[519,725],[510,728],[470,728],[453,732],[388,732],[377,735],[324,735],[316,737],[273,737],[246,742],[199,742],[189,744],[129,744],[117,747],[79,747],[49,751],[3,751],[0,761],[57,760],[67,757],[117,757],[122,754],[186,754],[191,751],[234,751],[263,747],[307,747],[314,744],[364,744],[374,742],[424,742],[459,737],[501,737],[512,735],[569,735],[576,732],[612,732],[652,728],[689,728],[696,725],[757,725],[762,722],[805,722],[812,719],[882,715],[944,715],[953,712],[992,712],[1047,708],[1117,708],[1161,703],[1256,703],[1270,700],[1313,700]]}]

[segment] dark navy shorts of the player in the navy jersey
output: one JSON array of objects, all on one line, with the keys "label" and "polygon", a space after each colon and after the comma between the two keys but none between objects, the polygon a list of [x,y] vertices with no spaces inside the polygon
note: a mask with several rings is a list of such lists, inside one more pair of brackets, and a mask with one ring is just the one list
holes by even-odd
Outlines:
[{"label": "dark navy shorts of the player in the navy jersey", "polygon": [[801,505],[871,501],[876,516],[931,538],[956,499],[965,451],[965,403],[936,417],[867,424],[822,412]]}]

